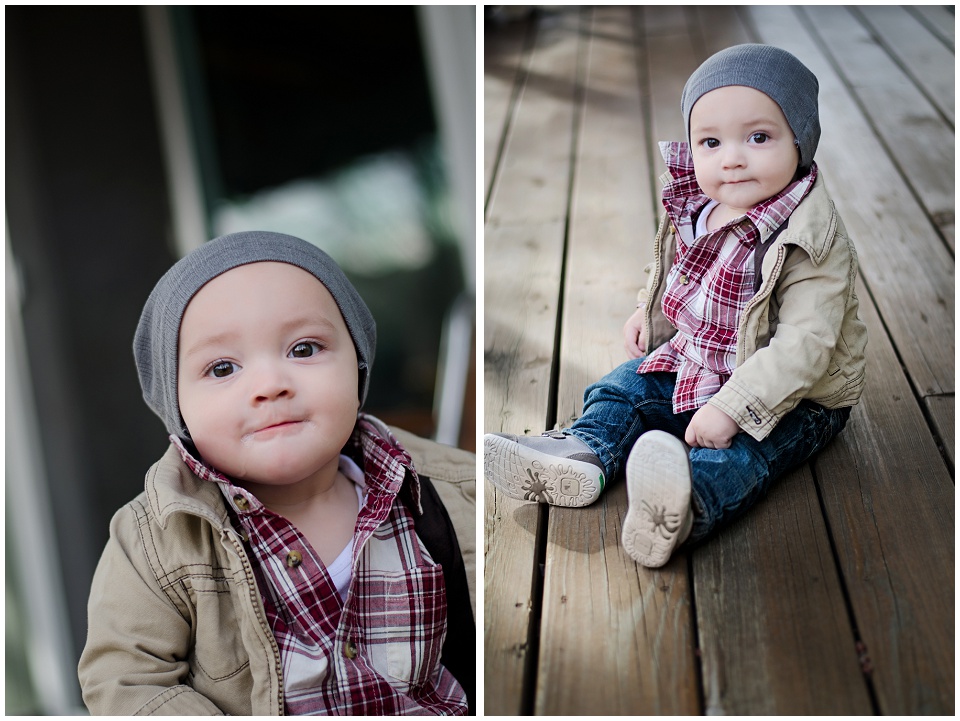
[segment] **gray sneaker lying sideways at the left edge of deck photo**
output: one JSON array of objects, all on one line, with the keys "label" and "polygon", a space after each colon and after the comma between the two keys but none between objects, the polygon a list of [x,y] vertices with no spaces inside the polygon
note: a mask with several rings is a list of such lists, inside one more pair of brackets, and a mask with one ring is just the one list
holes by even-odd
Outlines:
[{"label": "gray sneaker lying sideways at the left edge of deck photo", "polygon": [[506,495],[554,506],[587,506],[606,483],[600,459],[576,436],[488,433],[483,437],[483,475]]}]

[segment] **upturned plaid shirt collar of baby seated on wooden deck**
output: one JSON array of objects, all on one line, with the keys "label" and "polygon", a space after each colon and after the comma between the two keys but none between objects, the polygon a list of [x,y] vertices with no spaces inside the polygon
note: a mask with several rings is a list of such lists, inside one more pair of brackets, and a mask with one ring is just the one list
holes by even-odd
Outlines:
[{"label": "upturned plaid shirt collar of baby seated on wooden deck", "polygon": [[[665,181],[662,195],[663,207],[679,230],[681,225],[693,223],[693,219],[710,202],[710,198],[704,194],[697,182],[693,155],[688,143],[661,142],[660,153],[667,164],[667,173],[661,177],[661,180]],[[810,172],[805,176],[790,183],[772,198],[753,206],[742,219],[734,220],[732,223],[749,223],[749,230],[758,233],[755,240],[766,243],[813,188],[817,172],[817,164],[813,163],[810,166]],[[753,233],[749,234],[753,235]]]}]

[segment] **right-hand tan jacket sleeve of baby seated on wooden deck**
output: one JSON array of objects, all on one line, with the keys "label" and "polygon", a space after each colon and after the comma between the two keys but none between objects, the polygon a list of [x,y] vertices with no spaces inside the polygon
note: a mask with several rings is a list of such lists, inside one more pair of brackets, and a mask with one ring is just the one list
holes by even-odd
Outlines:
[{"label": "right-hand tan jacket sleeve of baby seated on wooden deck", "polygon": [[778,262],[783,269],[773,289],[779,309],[770,342],[744,359],[709,401],[757,440],[839,370],[830,362],[857,273],[856,254],[842,234],[819,262],[797,246]]}]

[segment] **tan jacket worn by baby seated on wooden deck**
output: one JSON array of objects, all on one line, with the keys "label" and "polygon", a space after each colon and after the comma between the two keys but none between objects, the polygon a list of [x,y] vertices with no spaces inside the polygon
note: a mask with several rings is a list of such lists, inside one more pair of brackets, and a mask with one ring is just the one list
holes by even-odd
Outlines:
[{"label": "tan jacket worn by baby seated on wooden deck", "polygon": [[[675,230],[664,214],[639,295],[647,304],[648,354],[676,333],[660,307],[675,255]],[[740,318],[737,368],[709,402],[757,440],[803,399],[826,408],[856,404],[867,344],[857,271],[856,250],[820,175],[763,258],[763,284]]]}]

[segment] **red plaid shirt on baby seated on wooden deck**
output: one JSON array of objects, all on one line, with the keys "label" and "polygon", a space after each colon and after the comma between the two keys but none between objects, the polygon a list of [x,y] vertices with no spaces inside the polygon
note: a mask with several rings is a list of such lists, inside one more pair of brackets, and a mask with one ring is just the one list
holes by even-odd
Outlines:
[{"label": "red plaid shirt on baby seated on wooden deck", "polygon": [[740,316],[754,296],[754,248],[810,192],[817,167],[746,215],[696,237],[696,218],[710,198],[697,183],[690,147],[660,143],[660,151],[672,178],[663,188],[663,206],[677,231],[661,306],[677,334],[647,356],[637,373],[676,373],[673,412],[681,413],[703,406],[733,374]]}]

